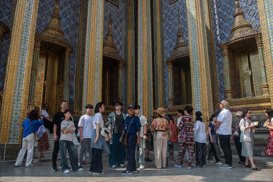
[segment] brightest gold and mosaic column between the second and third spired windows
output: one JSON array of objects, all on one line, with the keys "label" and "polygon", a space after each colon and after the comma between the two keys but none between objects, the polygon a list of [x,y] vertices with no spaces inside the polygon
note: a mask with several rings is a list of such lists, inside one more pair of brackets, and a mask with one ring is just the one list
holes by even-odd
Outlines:
[{"label": "brightest gold and mosaic column between the second and third spired windows", "polygon": [[[153,110],[150,0],[138,1],[138,104],[143,116]],[[137,104],[137,103],[135,103]]]}]

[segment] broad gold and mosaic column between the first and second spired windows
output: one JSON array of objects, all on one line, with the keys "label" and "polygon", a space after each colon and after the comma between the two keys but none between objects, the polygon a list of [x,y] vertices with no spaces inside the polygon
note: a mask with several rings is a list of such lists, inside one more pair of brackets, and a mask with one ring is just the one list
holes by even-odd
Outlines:
[{"label": "broad gold and mosaic column between the first and second spired windows", "polygon": [[96,106],[102,97],[102,53],[104,0],[89,0],[84,64],[82,111],[85,105]]}]

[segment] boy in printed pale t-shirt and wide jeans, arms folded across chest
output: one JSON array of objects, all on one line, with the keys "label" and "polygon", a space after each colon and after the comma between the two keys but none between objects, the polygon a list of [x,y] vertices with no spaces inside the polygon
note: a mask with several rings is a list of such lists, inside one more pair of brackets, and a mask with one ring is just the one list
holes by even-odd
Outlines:
[{"label": "boy in printed pale t-shirt and wide jeans, arms folded across chest", "polygon": [[69,118],[71,117],[71,112],[69,109],[64,111],[64,116],[66,118],[61,122],[61,137],[59,141],[62,171],[64,173],[70,173],[68,170],[68,163],[66,159],[66,150],[68,150],[72,170],[83,171],[83,169],[78,166],[77,151],[73,144],[73,133],[75,132],[75,125],[73,121],[69,120]]}]

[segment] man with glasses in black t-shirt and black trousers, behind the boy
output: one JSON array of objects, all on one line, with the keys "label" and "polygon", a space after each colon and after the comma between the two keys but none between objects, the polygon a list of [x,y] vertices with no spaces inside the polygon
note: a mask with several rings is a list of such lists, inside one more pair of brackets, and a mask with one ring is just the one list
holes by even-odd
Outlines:
[{"label": "man with glasses in black t-shirt and black trousers, behind the boy", "polygon": [[[57,112],[52,119],[52,123],[54,124],[53,132],[54,132],[54,141],[55,141],[54,149],[52,153],[52,171],[58,171],[56,162],[57,162],[57,157],[60,150],[59,139],[61,136],[61,122],[65,119],[64,111],[68,108],[67,101],[61,102],[61,108],[62,110]],[[73,121],[72,116],[70,117],[69,120]],[[60,168],[61,168],[61,165],[60,165]]]}]

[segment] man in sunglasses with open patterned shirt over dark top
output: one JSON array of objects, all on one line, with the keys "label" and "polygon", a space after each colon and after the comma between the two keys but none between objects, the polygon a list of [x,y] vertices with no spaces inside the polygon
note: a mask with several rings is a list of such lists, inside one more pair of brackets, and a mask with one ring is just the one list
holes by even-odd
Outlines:
[{"label": "man in sunglasses with open patterned shirt over dark top", "polygon": [[109,165],[113,169],[116,168],[116,165],[123,168],[126,156],[123,143],[119,141],[123,131],[124,120],[126,118],[126,114],[121,112],[122,108],[123,104],[117,102],[115,104],[116,111],[110,113],[108,117],[108,138],[112,139],[112,144],[110,144],[111,154],[109,154]]}]

